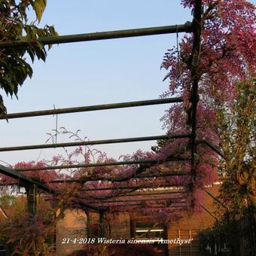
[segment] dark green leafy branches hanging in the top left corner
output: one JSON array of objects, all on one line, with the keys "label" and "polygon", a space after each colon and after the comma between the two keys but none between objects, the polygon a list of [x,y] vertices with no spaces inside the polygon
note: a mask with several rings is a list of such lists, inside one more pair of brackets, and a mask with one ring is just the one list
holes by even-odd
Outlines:
[{"label": "dark green leafy branches hanging in the top left corner", "polygon": [[[53,26],[43,29],[35,26],[41,20],[47,0],[3,0],[0,2],[0,40],[30,42],[18,47],[2,47],[0,43],[0,88],[7,95],[17,96],[18,89],[27,77],[32,78],[32,67],[26,61],[26,54],[32,60],[35,56],[45,61],[47,50],[38,41],[39,37],[57,35]],[[29,23],[27,12],[35,11],[36,20]],[[50,45],[49,45],[50,48]],[[0,114],[6,114],[5,104],[0,94]]]}]

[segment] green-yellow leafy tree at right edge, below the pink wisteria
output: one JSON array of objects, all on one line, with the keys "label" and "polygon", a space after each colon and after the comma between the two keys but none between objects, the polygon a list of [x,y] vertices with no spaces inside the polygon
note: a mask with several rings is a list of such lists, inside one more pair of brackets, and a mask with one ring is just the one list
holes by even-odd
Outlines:
[{"label": "green-yellow leafy tree at right edge, below the pink wisteria", "polygon": [[[240,82],[236,88],[236,100],[219,108],[217,118],[225,157],[220,171],[228,177],[221,185],[221,199],[239,216],[249,205],[256,209],[256,105],[255,87]],[[256,220],[256,212],[254,215]]]}]

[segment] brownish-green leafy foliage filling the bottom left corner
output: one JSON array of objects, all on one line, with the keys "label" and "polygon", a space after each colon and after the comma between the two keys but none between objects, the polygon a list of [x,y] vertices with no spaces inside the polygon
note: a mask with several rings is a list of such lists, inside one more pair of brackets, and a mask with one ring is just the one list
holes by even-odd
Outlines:
[{"label": "brownish-green leafy foliage filling the bottom left corner", "polygon": [[8,211],[8,221],[0,223],[0,239],[10,255],[49,255],[53,245],[47,239],[56,225],[55,211],[41,201],[38,212],[31,218],[23,203],[16,198],[15,205],[11,206],[13,211]]}]

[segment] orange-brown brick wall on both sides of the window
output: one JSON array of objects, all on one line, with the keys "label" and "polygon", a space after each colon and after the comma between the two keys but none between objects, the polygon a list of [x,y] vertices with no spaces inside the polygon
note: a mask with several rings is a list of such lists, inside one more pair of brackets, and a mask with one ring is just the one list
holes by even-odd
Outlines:
[{"label": "orange-brown brick wall on both sides of the window", "polygon": [[[218,194],[218,186],[206,187],[211,194]],[[209,195],[205,195],[205,201],[202,203],[210,212],[214,214],[217,210],[214,200]],[[142,215],[128,215],[122,213],[117,215],[111,224],[111,238],[129,238],[131,237],[131,221],[154,221]],[[169,244],[169,256],[197,256],[199,253],[198,233],[200,230],[211,227],[215,223],[215,218],[209,215],[203,208],[201,212],[186,218],[181,218],[179,221],[170,222],[167,229],[166,239],[191,239],[190,244],[177,245]],[[121,246],[121,245],[120,245]]]}]

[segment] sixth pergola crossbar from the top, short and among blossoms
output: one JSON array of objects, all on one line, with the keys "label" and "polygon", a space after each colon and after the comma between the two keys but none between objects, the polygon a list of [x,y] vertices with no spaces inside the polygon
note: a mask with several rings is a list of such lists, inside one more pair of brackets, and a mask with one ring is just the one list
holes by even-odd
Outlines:
[{"label": "sixth pergola crossbar from the top, short and among blossoms", "polygon": [[154,190],[159,189],[160,187],[181,187],[184,188],[184,184],[159,184],[157,187],[154,187],[152,184],[142,184],[142,185],[134,185],[134,186],[119,186],[119,187],[95,187],[95,188],[82,188],[81,191],[100,191],[100,190],[138,190],[143,188],[152,188]]}]

